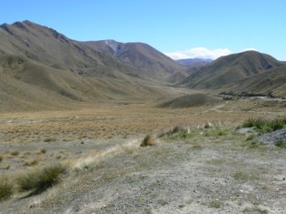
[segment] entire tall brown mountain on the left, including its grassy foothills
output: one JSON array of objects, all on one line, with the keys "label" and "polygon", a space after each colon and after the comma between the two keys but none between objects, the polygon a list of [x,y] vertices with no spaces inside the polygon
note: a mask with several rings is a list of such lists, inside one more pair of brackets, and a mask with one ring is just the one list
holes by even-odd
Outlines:
[{"label": "entire tall brown mountain on the left, including its grassy foothills", "polygon": [[0,25],[0,81],[0,111],[164,93],[152,86],[163,81],[158,76],[29,21]]}]

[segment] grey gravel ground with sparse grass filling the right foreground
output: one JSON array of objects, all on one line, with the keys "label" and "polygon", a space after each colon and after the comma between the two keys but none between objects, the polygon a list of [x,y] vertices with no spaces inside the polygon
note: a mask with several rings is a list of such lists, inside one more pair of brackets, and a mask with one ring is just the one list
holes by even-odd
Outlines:
[{"label": "grey gravel ground with sparse grass filling the right foreground", "polygon": [[107,158],[0,213],[285,213],[286,149],[244,134],[161,142]]}]

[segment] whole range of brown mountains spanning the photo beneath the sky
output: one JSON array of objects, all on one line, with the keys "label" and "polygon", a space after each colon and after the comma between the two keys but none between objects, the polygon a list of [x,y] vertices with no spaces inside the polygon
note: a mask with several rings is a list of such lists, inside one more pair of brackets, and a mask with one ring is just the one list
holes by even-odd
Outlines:
[{"label": "whole range of brown mountains spanning the photo beneath the sky", "polygon": [[[164,87],[222,88],[286,96],[285,63],[249,51],[215,61],[176,62],[143,43],[80,42],[30,21],[0,25],[0,110],[69,103],[143,101]],[[254,83],[260,83],[255,85]],[[256,87],[253,87],[256,86]]]}]

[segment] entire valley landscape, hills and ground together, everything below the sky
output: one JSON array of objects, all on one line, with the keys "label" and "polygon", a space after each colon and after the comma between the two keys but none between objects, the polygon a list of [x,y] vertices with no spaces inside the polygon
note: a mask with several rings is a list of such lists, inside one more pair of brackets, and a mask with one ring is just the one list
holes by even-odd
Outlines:
[{"label": "entire valley landscape, hills and ground together, everything below the sky", "polygon": [[285,65],[0,25],[0,213],[284,213]]}]

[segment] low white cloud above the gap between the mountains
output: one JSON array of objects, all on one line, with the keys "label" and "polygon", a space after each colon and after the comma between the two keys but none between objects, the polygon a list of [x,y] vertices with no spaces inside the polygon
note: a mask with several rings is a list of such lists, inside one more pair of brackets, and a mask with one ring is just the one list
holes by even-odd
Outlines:
[{"label": "low white cloud above the gap between the mountains", "polygon": [[233,54],[228,48],[207,49],[206,47],[199,46],[189,50],[175,51],[173,53],[164,53],[166,56],[170,56],[173,59],[182,58],[210,58],[217,59],[220,56],[227,56]]}]

